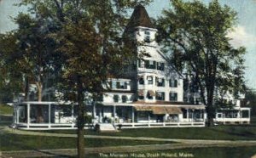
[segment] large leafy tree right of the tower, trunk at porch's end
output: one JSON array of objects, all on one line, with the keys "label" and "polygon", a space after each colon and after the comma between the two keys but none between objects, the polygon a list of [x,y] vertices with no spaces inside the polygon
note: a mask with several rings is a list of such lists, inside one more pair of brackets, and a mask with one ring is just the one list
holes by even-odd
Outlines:
[{"label": "large leafy tree right of the tower, trunk at porch's end", "polygon": [[[208,5],[200,1],[172,0],[157,21],[158,39],[179,71],[195,76],[201,99],[207,105],[207,125],[213,125],[215,92],[240,91],[243,85],[245,48],[230,45],[229,31],[236,24],[236,13],[218,0]],[[236,87],[236,89],[234,89]]]}]

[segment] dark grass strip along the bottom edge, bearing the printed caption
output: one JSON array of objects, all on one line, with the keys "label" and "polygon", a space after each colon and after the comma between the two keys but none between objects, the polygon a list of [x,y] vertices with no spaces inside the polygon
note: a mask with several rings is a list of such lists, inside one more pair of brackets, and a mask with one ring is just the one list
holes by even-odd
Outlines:
[{"label": "dark grass strip along the bottom edge, bearing the printed caption", "polygon": [[[151,156],[148,155],[151,154]],[[134,157],[132,154],[142,154],[145,158],[148,157],[171,157],[165,155],[173,155],[172,157],[186,157],[185,154],[193,155],[195,158],[248,158],[252,157],[256,154],[255,146],[252,147],[214,147],[214,148],[193,148],[193,149],[183,149],[183,150],[158,150],[158,151],[144,151],[144,152],[136,152],[136,153],[119,153],[122,155],[128,155],[128,157]],[[106,155],[110,155],[107,153]],[[100,157],[100,154],[90,154],[87,155],[90,158]],[[110,156],[108,156],[110,157]],[[138,156],[137,156],[138,157]],[[143,157],[143,156],[142,156]],[[191,156],[187,156],[191,157]]]}]

